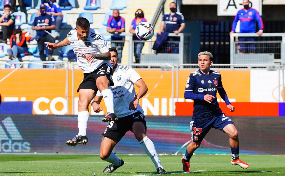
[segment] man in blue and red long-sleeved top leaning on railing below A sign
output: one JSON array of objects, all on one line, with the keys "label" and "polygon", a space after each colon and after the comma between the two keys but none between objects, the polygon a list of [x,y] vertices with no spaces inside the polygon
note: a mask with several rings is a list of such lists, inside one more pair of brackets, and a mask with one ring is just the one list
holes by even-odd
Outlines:
[{"label": "man in blue and red long-sleeved top leaning on railing below A sign", "polygon": [[[257,31],[258,36],[261,36],[263,33],[263,21],[260,17],[258,11],[249,7],[249,0],[243,0],[243,9],[237,12],[235,19],[233,20],[233,27],[230,32],[234,33],[235,28],[237,27],[237,22],[240,21],[240,31],[239,33],[255,33],[255,22],[257,21],[259,31]],[[239,37],[239,41],[255,41],[254,37]],[[246,48],[248,47],[249,53],[254,53],[254,44],[249,43],[245,46],[245,43],[239,44],[240,54],[246,52]]]}]

